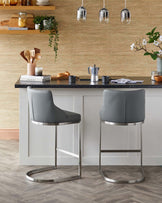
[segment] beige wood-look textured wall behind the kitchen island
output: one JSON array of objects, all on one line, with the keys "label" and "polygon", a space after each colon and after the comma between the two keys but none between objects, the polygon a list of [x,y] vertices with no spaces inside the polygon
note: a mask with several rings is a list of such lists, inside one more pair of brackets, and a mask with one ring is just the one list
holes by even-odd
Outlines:
[{"label": "beige wood-look textured wall behind the kitchen island", "polygon": [[[102,0],[85,0],[87,21],[76,21],[76,10],[81,0],[54,0],[54,15],[59,22],[60,43],[58,59],[48,47],[48,35],[0,35],[0,128],[18,128],[18,89],[14,83],[26,73],[26,63],[20,51],[41,48],[45,74],[69,71],[76,75],[88,75],[87,67],[94,63],[100,67],[100,75],[150,76],[156,70],[156,61],[143,53],[130,51],[130,44],[150,31],[154,26],[162,32],[161,0],[127,0],[131,11],[130,25],[120,23],[120,11],[124,0],[109,0],[110,23],[102,25],[98,12]],[[16,12],[15,12],[16,13]],[[48,14],[49,12],[46,12]],[[1,12],[0,20],[12,12]],[[38,12],[36,14],[42,14]]]}]

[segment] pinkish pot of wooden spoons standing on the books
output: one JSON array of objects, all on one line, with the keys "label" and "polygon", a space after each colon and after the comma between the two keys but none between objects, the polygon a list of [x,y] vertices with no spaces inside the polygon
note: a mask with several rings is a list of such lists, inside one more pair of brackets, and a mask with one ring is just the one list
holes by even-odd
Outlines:
[{"label": "pinkish pot of wooden spoons standing on the books", "polygon": [[36,62],[41,59],[40,49],[24,50],[20,55],[27,61],[27,75],[35,75]]}]

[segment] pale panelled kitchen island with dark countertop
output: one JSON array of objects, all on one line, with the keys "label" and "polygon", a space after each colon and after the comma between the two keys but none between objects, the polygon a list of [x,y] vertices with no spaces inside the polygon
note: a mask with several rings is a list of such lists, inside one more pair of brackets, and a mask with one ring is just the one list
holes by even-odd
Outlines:
[{"label": "pale panelled kitchen island with dark countertop", "polygon": [[[116,79],[118,77],[113,77]],[[121,77],[120,77],[121,78]],[[123,76],[122,78],[126,78]],[[81,114],[82,156],[83,165],[98,165],[99,150],[99,111],[102,105],[102,93],[106,88],[146,90],[146,119],[143,125],[143,161],[144,165],[162,164],[162,83],[151,81],[149,77],[129,77],[133,80],[144,80],[137,84],[92,84],[86,77],[80,78],[75,84],[67,80],[15,83],[20,90],[20,164],[53,165],[54,164],[54,127],[37,126],[29,118],[27,86],[47,88],[53,93],[54,102],[60,108]],[[44,107],[46,108],[46,107]],[[77,125],[58,127],[58,146],[77,152]],[[139,138],[135,126],[103,126],[103,147],[105,148],[138,148]],[[63,141],[63,142],[62,142]],[[76,160],[58,154],[58,164],[73,165]],[[136,165],[139,155],[105,154],[105,165]]]}]

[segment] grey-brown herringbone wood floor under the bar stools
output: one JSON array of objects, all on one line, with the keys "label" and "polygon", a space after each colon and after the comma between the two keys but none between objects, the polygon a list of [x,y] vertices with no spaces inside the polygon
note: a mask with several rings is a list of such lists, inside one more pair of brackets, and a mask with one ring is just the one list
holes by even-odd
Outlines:
[{"label": "grey-brown herringbone wood floor under the bar stools", "polygon": [[[145,182],[133,185],[106,183],[96,166],[83,167],[80,180],[40,184],[26,180],[25,172],[36,167],[19,165],[17,141],[1,140],[0,155],[0,203],[162,203],[160,166],[145,167]],[[108,169],[128,175],[126,167]],[[71,173],[71,169],[67,171]],[[128,171],[134,175],[136,167],[128,167]],[[112,175],[118,176],[117,172]]]}]

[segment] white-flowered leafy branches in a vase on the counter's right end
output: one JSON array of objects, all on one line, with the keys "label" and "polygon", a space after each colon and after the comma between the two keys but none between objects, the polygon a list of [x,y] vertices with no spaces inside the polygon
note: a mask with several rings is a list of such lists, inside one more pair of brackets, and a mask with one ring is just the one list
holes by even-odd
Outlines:
[{"label": "white-flowered leafy branches in a vase on the counter's right end", "polygon": [[[146,33],[147,38],[136,41],[131,45],[131,50],[143,50],[145,56],[151,56],[153,60],[157,59],[157,72],[162,75],[162,35],[156,32],[154,27],[150,32]],[[150,45],[150,50],[147,48]],[[154,49],[154,50],[153,50]]]}]

